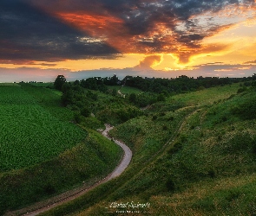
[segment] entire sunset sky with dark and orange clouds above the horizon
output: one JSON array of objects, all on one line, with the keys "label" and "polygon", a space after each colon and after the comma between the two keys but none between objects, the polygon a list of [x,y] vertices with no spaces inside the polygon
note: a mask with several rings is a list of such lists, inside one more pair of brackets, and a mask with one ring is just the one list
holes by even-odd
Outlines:
[{"label": "entire sunset sky with dark and orange clouds above the horizon", "polygon": [[256,0],[0,0],[0,82],[256,73]]}]

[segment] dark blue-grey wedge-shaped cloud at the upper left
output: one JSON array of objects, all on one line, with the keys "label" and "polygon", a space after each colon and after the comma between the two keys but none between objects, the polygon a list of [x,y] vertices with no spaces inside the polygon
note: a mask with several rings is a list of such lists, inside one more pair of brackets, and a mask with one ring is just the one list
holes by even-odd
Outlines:
[{"label": "dark blue-grey wedge-shaped cloud at the upper left", "polygon": [[102,41],[18,0],[0,2],[0,29],[2,60],[101,58],[117,53]]}]

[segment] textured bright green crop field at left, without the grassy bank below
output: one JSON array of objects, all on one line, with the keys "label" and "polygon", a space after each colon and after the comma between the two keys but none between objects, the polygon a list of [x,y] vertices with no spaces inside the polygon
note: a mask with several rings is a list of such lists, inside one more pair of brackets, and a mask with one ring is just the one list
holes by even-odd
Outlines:
[{"label": "textured bright green crop field at left, without the grassy bank below", "polygon": [[0,171],[25,168],[79,143],[86,133],[54,117],[20,86],[0,86]]}]

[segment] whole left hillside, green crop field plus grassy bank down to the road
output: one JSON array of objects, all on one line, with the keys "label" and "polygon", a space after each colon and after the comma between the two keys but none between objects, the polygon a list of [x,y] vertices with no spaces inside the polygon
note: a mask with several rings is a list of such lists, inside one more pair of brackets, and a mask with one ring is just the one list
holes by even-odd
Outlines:
[{"label": "whole left hillside, green crop field plus grassy bank down to the road", "polygon": [[111,172],[121,149],[73,123],[61,93],[0,86],[0,214],[91,185]]}]

